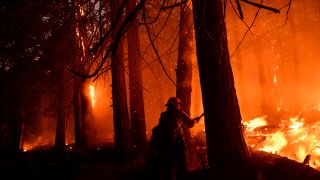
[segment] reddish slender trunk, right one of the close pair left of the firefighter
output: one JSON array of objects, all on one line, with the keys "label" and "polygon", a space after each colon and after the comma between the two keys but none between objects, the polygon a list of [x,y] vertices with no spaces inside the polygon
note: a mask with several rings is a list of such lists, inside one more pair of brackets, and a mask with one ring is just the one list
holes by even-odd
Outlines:
[{"label": "reddish slender trunk, right one of the close pair left of the firefighter", "polygon": [[[127,13],[136,6],[136,0],[127,1]],[[127,32],[129,59],[130,116],[133,146],[138,151],[147,144],[146,122],[142,89],[141,56],[139,53],[139,32],[137,20],[131,22]]]}]

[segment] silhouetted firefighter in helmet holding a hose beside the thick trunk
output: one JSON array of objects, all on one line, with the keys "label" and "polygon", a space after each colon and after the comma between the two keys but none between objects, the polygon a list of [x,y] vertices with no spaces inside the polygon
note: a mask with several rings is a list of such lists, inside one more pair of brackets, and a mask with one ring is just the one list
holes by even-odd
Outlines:
[{"label": "silhouetted firefighter in helmet holding a hose beside the thick trunk", "polygon": [[159,124],[152,130],[152,153],[157,157],[157,179],[186,179],[184,130],[198,123],[201,116],[190,118],[182,109],[177,97],[169,98],[166,111],[162,112]]}]

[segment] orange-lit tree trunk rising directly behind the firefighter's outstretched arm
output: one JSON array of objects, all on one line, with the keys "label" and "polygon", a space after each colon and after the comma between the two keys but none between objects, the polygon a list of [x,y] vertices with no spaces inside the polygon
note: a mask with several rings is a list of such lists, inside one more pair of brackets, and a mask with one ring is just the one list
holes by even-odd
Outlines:
[{"label": "orange-lit tree trunk rising directly behind the firefighter's outstretched arm", "polygon": [[[193,16],[191,1],[180,6],[179,52],[177,63],[176,96],[183,102],[182,109],[190,115],[192,91]],[[185,130],[187,147],[191,146],[190,130]]]}]

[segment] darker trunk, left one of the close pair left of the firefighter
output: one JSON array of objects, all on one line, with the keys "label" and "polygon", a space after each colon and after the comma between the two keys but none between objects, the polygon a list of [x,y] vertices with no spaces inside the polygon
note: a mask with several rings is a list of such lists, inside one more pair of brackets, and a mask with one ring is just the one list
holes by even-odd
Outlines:
[{"label": "darker trunk, left one of the close pair left of the firefighter", "polygon": [[[110,1],[111,24],[117,26],[112,34],[114,40],[116,39],[117,29],[120,24],[120,22],[116,22],[116,16],[120,6],[119,3],[119,1]],[[131,156],[132,147],[123,56],[123,43],[119,42],[116,55],[112,54],[111,57],[114,142],[119,160],[127,160]]]}]

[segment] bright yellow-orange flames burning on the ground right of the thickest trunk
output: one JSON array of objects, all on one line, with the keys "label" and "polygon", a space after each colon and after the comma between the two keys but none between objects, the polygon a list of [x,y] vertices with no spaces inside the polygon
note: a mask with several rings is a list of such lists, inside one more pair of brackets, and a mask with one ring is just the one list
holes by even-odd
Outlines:
[{"label": "bright yellow-orange flames burning on the ground right of the thickest trunk", "polygon": [[[310,113],[320,115],[319,105]],[[300,113],[281,119],[278,125],[268,126],[266,117],[257,117],[243,123],[246,125],[245,134],[250,147],[301,163],[308,157],[309,165],[320,170],[320,122],[317,119],[306,119],[308,116]],[[259,128],[262,126],[263,129]]]}]

